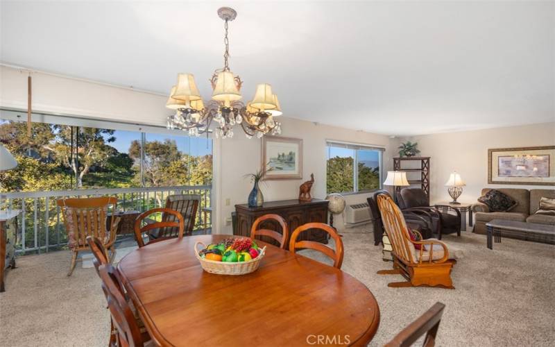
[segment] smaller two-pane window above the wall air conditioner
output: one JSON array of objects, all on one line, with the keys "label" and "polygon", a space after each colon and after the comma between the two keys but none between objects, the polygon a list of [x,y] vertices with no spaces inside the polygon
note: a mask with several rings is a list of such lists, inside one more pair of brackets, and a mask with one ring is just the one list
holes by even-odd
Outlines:
[{"label": "smaller two-pane window above the wall air conditioner", "polygon": [[382,187],[383,148],[327,142],[326,191],[370,192]]}]

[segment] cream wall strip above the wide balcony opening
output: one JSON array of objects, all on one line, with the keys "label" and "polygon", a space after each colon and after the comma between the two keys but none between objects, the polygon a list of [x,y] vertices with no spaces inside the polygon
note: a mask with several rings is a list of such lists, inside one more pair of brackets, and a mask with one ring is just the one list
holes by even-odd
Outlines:
[{"label": "cream wall strip above the wide balcony opening", "polygon": [[[28,73],[0,66],[0,105],[27,109]],[[166,124],[167,96],[76,78],[33,72],[33,111],[113,119],[135,124]]]}]

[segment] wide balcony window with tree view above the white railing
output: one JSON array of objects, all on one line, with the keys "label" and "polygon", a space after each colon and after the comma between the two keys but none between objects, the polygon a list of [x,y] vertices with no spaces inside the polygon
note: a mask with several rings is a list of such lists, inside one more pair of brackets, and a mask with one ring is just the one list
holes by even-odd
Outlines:
[{"label": "wide balcony window with tree view above the white railing", "polygon": [[19,166],[0,192],[212,184],[212,139],[180,130],[1,110],[0,142]]}]

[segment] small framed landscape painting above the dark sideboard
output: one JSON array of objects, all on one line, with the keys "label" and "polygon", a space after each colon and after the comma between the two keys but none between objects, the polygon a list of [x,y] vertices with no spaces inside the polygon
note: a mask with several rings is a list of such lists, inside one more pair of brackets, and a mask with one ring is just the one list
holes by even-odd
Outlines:
[{"label": "small framed landscape painting above the dark sideboard", "polygon": [[302,139],[262,137],[264,180],[302,179]]}]

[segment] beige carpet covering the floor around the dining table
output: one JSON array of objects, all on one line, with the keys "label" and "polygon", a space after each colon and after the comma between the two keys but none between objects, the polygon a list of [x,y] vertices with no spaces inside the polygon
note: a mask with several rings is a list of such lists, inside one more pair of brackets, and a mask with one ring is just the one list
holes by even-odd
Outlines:
[{"label": "beige carpet covering the floor around the dining table", "polygon": [[[503,239],[494,250],[482,235],[445,241],[464,256],[454,267],[456,289],[388,288],[398,276],[364,227],[344,232],[343,270],[373,292],[382,320],[370,346],[382,346],[436,301],[447,305],[439,346],[554,346],[555,246]],[[105,346],[109,319],[94,269],[66,277],[69,252],[19,257],[0,294],[2,346]]]}]

